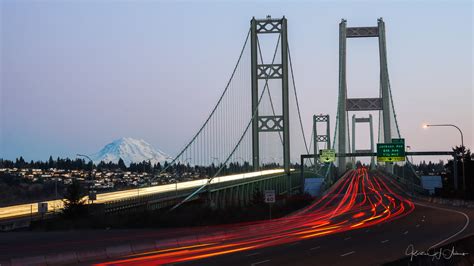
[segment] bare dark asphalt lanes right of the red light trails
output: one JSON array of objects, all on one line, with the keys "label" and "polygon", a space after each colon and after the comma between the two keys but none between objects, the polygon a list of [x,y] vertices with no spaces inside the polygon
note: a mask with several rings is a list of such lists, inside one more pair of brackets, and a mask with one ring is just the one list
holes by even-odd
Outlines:
[{"label": "bare dark asphalt lanes right of the red light trails", "polygon": [[[465,226],[464,215],[433,207],[417,205],[408,216],[369,228],[179,265],[381,265],[404,257],[410,244],[426,250]],[[474,210],[463,211],[474,218]],[[448,242],[470,234],[472,224]]]}]

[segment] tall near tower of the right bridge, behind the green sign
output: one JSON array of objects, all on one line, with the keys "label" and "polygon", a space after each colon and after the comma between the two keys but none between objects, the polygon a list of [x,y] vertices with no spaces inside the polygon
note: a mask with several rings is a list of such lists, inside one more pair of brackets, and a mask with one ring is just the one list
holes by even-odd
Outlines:
[{"label": "tall near tower of the right bridge, behind the green sign", "polygon": [[[349,111],[380,111],[383,123],[383,141],[391,142],[391,115],[390,115],[390,84],[387,68],[387,50],[385,42],[385,23],[378,19],[376,27],[347,27],[346,20],[339,24],[339,99],[337,117],[337,152],[349,152],[348,112]],[[380,57],[380,97],[378,98],[347,98],[346,83],[346,40],[347,38],[378,37]],[[380,126],[380,125],[379,125]],[[346,169],[346,158],[338,158],[339,173]]]}]

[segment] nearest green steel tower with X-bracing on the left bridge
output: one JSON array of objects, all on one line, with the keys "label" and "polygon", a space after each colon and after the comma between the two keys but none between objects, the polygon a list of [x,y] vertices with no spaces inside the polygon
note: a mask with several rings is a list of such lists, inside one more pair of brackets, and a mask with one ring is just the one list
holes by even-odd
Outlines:
[{"label": "nearest green steel tower with X-bracing on the left bridge", "polygon": [[[258,63],[258,35],[280,34],[281,62],[272,64]],[[287,20],[252,18],[250,21],[251,71],[252,71],[252,162],[255,171],[260,168],[259,134],[265,132],[283,132],[283,165],[290,173],[290,120],[288,96],[288,36]],[[263,63],[263,62],[262,62]],[[259,80],[281,79],[282,114],[259,116]]]}]

